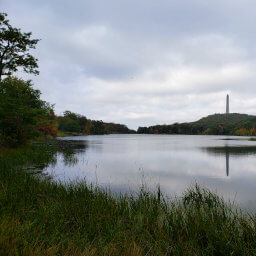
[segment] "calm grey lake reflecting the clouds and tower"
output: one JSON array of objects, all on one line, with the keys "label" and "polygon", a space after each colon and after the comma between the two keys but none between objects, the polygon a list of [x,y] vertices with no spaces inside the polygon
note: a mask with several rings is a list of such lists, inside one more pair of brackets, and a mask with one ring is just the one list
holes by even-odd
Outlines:
[{"label": "calm grey lake reflecting the clouds and tower", "polygon": [[69,154],[58,153],[45,173],[62,182],[86,179],[114,192],[161,189],[180,196],[195,182],[225,199],[256,210],[256,142],[246,137],[103,135],[66,137]]}]

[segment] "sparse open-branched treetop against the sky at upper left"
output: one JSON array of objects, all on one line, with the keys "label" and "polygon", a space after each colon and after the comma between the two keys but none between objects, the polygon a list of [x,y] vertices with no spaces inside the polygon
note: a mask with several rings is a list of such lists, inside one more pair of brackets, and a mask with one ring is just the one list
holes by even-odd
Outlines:
[{"label": "sparse open-branched treetop against the sky at upper left", "polygon": [[22,33],[6,19],[6,13],[0,13],[0,81],[3,75],[12,75],[22,68],[26,73],[39,74],[37,59],[30,53],[39,39],[31,39],[32,33]]}]

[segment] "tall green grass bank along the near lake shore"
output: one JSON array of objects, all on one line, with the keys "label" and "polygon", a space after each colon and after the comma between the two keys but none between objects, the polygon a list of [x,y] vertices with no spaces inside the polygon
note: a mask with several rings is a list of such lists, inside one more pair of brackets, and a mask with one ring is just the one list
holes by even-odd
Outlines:
[{"label": "tall green grass bank along the near lake shore", "polygon": [[256,255],[255,216],[198,186],[169,201],[159,190],[113,196],[27,171],[57,150],[0,154],[0,255]]}]

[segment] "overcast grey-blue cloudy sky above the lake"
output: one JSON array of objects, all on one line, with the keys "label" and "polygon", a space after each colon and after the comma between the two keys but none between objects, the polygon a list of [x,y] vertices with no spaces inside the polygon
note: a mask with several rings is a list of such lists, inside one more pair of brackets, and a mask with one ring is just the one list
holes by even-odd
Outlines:
[{"label": "overcast grey-blue cloudy sky above the lake", "polygon": [[130,128],[256,114],[255,0],[1,0],[57,114]]}]

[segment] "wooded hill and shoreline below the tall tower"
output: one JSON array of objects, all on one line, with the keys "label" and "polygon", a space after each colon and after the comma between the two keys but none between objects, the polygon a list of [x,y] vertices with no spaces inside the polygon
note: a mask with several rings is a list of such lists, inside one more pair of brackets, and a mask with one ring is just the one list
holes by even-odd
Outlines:
[{"label": "wooded hill and shoreline below the tall tower", "polygon": [[256,136],[256,116],[214,114],[196,122],[139,127],[140,134],[204,134]]}]

